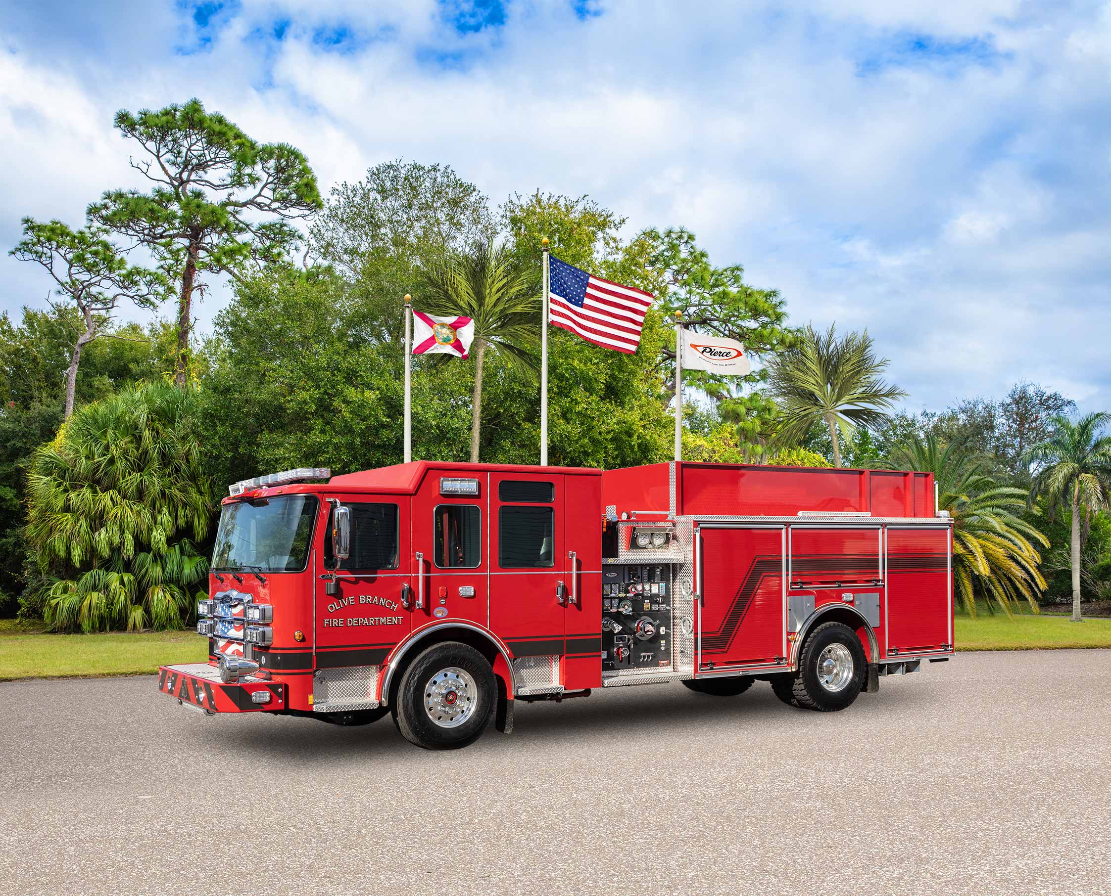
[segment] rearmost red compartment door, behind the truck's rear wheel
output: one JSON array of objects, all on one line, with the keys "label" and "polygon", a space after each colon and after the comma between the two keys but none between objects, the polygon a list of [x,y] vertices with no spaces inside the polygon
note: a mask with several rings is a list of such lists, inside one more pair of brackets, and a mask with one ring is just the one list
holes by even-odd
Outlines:
[{"label": "rearmost red compartment door, behind the truck's rear wheel", "polygon": [[949,527],[888,526],[884,642],[899,653],[953,643]]}]

